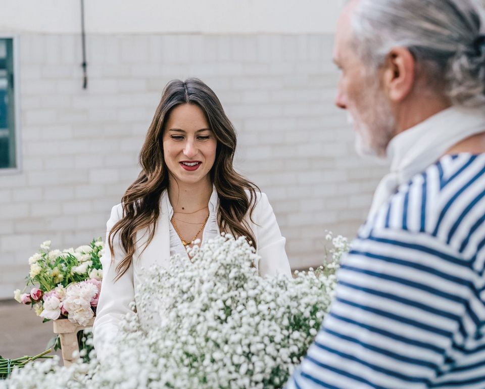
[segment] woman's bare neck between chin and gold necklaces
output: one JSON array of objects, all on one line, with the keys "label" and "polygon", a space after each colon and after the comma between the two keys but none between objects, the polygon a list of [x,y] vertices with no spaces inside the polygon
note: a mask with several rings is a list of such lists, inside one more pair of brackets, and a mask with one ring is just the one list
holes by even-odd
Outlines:
[{"label": "woman's bare neck between chin and gold necklaces", "polygon": [[203,180],[194,184],[177,182],[169,178],[168,198],[174,212],[191,213],[207,207],[212,195],[212,183]]}]

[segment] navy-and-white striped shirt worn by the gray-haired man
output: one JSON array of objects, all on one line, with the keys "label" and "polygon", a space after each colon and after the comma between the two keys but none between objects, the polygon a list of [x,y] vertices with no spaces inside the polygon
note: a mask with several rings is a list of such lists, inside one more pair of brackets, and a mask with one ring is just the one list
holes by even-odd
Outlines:
[{"label": "navy-and-white striped shirt worn by the gray-haired man", "polygon": [[485,388],[485,154],[445,156],[364,224],[288,388]]}]

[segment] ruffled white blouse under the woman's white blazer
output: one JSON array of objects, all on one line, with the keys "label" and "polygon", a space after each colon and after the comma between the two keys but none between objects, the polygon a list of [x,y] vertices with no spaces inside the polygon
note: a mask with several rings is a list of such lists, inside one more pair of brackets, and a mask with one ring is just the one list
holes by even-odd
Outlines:
[{"label": "ruffled white blouse under the woman's white blazer", "polygon": [[[219,226],[217,225],[217,191],[216,188],[212,187],[212,194],[211,198],[209,199],[209,218],[207,219],[207,223],[204,226],[204,230],[202,231],[202,239],[201,245],[205,244],[208,240],[214,239],[219,235]],[[170,204],[170,199],[168,197],[168,192],[165,190],[162,194],[162,201],[165,202],[166,207],[168,209],[168,218],[172,220],[173,216],[173,207]],[[187,251],[186,248],[183,246],[180,237],[175,231],[174,226],[170,223],[170,256],[174,256],[178,254],[180,257],[186,257]]]}]

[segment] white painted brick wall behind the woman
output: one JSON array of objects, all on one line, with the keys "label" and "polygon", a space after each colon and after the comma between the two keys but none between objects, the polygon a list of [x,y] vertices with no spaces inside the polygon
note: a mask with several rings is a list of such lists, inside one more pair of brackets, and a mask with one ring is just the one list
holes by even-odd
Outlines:
[{"label": "white painted brick wall behind the woman", "polygon": [[105,233],[138,173],[137,154],[163,86],[197,76],[239,134],[236,167],[268,194],[294,268],[322,260],[325,230],[352,237],[385,167],[355,156],[333,107],[330,35],[23,33],[23,170],[0,171],[0,299],[23,284],[40,242],[65,248]]}]

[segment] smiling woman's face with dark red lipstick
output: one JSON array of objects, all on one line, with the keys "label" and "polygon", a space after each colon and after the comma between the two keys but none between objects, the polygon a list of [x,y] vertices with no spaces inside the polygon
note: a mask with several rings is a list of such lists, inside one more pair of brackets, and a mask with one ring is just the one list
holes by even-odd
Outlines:
[{"label": "smiling woman's face with dark red lipstick", "polygon": [[199,106],[181,104],[173,108],[162,141],[165,164],[179,183],[210,180],[217,141]]}]

